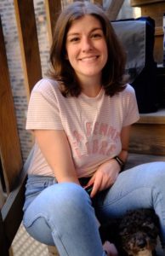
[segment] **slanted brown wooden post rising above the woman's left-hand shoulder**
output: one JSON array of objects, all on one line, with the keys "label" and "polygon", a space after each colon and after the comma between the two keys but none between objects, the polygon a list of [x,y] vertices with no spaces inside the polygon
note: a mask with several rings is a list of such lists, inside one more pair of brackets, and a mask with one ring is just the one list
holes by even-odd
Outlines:
[{"label": "slanted brown wooden post rising above the woman's left-hand shoulder", "polygon": [[14,9],[20,38],[27,96],[29,97],[34,84],[42,78],[33,0],[14,0]]}]

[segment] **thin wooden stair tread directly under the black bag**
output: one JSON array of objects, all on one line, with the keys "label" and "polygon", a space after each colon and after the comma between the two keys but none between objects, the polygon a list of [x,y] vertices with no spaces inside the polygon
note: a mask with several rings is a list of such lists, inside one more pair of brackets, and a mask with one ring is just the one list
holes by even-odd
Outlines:
[{"label": "thin wooden stair tread directly under the black bag", "polygon": [[155,113],[140,113],[139,124],[165,124],[165,108]]}]

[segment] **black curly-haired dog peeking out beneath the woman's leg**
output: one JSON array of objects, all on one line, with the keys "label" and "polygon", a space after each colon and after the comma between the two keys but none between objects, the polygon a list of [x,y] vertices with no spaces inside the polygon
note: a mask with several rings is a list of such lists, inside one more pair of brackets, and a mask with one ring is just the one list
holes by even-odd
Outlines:
[{"label": "black curly-haired dog peeking out beneath the woman's leg", "polygon": [[159,219],[152,209],[128,211],[122,218],[100,225],[101,240],[111,241],[119,256],[156,255]]}]

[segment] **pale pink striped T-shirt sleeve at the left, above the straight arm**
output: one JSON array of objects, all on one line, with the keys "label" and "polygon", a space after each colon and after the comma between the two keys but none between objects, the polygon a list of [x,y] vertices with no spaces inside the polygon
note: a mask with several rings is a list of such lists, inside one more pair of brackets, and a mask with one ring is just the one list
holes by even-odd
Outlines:
[{"label": "pale pink striped T-shirt sleeve at the left, above the straight arm", "polygon": [[63,130],[55,88],[46,79],[31,91],[27,110],[26,130]]}]

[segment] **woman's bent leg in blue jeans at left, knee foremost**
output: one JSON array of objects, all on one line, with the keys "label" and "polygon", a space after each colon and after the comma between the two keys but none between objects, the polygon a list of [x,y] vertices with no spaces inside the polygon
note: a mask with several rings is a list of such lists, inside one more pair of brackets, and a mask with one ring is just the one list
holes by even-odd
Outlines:
[{"label": "woman's bent leg in blue jeans at left, knee foremost", "polygon": [[103,254],[94,207],[86,191],[75,183],[43,189],[26,208],[24,225],[38,241],[55,244],[61,255]]}]

